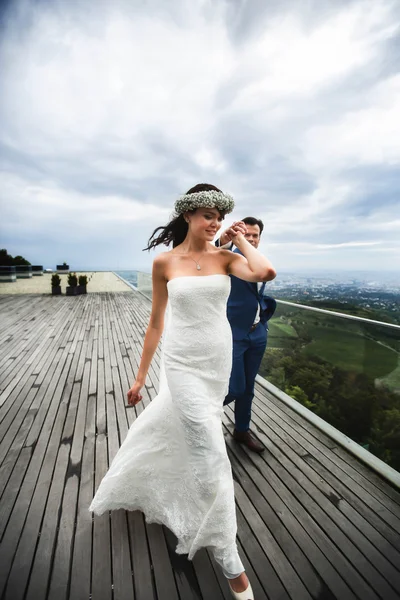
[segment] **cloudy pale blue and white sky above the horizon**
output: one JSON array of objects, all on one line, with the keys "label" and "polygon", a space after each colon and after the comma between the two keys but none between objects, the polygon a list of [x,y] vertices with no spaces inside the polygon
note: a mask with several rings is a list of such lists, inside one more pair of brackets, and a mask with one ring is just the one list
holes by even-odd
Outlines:
[{"label": "cloudy pale blue and white sky above the horizon", "polygon": [[1,6],[11,254],[149,270],[152,230],[208,182],[227,225],[264,220],[278,270],[398,268],[398,0]]}]

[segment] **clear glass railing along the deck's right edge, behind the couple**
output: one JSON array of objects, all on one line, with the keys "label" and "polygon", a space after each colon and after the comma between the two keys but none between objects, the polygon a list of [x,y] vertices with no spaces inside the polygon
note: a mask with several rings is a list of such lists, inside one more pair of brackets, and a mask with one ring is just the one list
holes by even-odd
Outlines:
[{"label": "clear glass railing along the deck's right edge, behind the couple", "polygon": [[400,326],[278,300],[259,374],[400,471]]}]

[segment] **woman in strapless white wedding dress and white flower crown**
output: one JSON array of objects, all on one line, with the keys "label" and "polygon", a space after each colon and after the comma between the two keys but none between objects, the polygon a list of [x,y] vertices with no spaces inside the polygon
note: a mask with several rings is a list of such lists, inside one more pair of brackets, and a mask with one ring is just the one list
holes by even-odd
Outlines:
[{"label": "woman in strapless white wedding dress and white flower crown", "polygon": [[178,553],[192,559],[208,547],[233,597],[252,600],[236,546],[221,421],[232,363],[226,302],[229,275],[258,282],[273,279],[275,271],[241,226],[230,230],[241,254],[211,243],[233,207],[233,199],[215,186],[196,185],[176,201],[172,221],[149,240],[149,250],[171,242],[173,249],[153,263],[151,317],[128,403],[142,399],[163,334],[159,393],[130,427],[89,510],[141,510],[147,522],[162,523],[176,535]]}]

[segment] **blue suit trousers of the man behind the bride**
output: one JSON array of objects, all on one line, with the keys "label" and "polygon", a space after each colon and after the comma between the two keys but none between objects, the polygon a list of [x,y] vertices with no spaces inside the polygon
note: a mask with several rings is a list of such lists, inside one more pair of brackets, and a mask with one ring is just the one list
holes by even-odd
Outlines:
[{"label": "blue suit trousers of the man behind the bride", "polygon": [[250,428],[254,381],[267,346],[268,331],[263,323],[242,340],[233,340],[232,372],[229,392],[224,405],[235,401],[235,429],[244,432]]}]

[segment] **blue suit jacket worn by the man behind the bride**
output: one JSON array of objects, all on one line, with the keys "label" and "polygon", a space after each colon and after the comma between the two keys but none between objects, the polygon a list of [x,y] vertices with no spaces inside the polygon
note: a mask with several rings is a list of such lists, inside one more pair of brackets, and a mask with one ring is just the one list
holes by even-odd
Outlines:
[{"label": "blue suit jacket worn by the man behind the bride", "polygon": [[[241,254],[236,248],[233,250]],[[270,296],[264,296],[265,283],[258,291],[256,283],[243,281],[234,275],[231,278],[231,293],[228,298],[227,315],[232,328],[234,340],[242,340],[249,333],[260,306],[260,321],[268,329],[268,321],[276,309],[276,301]]]}]

